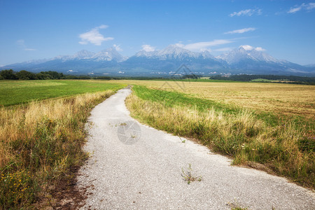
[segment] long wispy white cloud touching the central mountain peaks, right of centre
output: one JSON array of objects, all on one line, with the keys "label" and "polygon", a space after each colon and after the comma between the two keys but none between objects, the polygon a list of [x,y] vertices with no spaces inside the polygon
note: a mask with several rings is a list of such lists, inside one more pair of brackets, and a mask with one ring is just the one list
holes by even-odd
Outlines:
[{"label": "long wispy white cloud touching the central mountain peaks, right of centre", "polygon": [[183,43],[176,43],[181,48],[185,48],[187,50],[192,51],[204,51],[204,50],[210,50],[210,47],[216,46],[216,45],[223,45],[227,43],[235,42],[231,39],[215,39],[214,41],[203,41],[203,42],[196,42],[196,43],[190,43],[188,45],[184,45]]}]

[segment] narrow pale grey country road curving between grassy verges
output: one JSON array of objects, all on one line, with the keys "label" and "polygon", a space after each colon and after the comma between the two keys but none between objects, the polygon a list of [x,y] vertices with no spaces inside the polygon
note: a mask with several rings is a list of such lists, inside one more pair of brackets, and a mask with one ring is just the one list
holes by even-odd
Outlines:
[{"label": "narrow pale grey country road curving between grassy verges", "polygon": [[[83,209],[315,209],[315,195],[286,179],[233,167],[208,148],[130,117],[119,90],[89,118],[78,186],[88,188]],[[193,177],[188,184],[189,165]]]}]

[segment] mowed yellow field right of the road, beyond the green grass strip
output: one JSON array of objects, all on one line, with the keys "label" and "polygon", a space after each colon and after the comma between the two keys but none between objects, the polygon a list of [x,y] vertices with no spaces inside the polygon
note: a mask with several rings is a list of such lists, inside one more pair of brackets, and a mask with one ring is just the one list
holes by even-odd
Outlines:
[{"label": "mowed yellow field right of the road, beyond the green grass strip", "polygon": [[118,80],[116,83],[146,85],[178,91],[223,104],[235,104],[277,114],[315,116],[315,86],[279,83],[206,83],[181,81]]}]

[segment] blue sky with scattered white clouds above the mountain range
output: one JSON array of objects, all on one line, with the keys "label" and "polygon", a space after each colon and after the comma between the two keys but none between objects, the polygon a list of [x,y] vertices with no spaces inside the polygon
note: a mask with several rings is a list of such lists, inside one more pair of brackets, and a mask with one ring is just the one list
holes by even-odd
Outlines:
[{"label": "blue sky with scattered white clouds above the mountain range", "polygon": [[0,0],[0,66],[98,52],[122,55],[177,44],[220,55],[251,45],[315,63],[315,1]]}]

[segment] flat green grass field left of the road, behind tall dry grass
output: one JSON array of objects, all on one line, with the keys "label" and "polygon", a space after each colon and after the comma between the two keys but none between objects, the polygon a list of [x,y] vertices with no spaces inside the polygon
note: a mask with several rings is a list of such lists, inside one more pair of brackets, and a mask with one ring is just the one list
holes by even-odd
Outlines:
[{"label": "flat green grass field left of the road, behind tall dry grass", "polygon": [[0,80],[0,106],[123,87],[104,80]]}]

